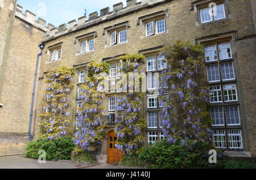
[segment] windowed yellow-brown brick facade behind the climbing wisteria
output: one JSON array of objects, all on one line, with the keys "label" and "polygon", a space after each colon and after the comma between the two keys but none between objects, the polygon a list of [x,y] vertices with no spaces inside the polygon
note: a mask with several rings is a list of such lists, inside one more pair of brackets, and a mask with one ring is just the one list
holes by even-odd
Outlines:
[{"label": "windowed yellow-brown brick facade behind the climbing wisteria", "polygon": [[[212,11],[214,13],[209,14],[211,10],[214,10]],[[36,41],[38,44],[43,42],[46,47],[40,59],[36,85],[32,121],[35,122],[33,123],[34,139],[38,138],[39,131],[36,126],[38,121],[36,116],[44,112],[41,99],[46,89],[45,80],[49,69],[63,65],[75,68],[75,88],[72,93],[72,128],[75,131],[76,109],[79,105],[78,87],[82,82],[81,77],[86,74],[85,66],[89,62],[109,63],[110,77],[114,78],[118,75],[119,55],[138,53],[144,54],[147,58],[147,63],[143,65],[144,72],[159,72],[162,68],[158,63],[162,58],[159,55],[160,48],[172,41],[182,40],[203,44],[207,52],[205,75],[210,81],[214,100],[207,108],[213,119],[214,144],[225,148],[232,156],[256,156],[255,88],[253,87],[256,31],[253,1],[127,0],[127,7],[118,3],[113,6],[113,11],[110,11],[109,7],[102,8],[100,15],[98,12],[93,12],[89,14],[89,18],[82,16],[77,22],[72,20],[58,28],[48,25],[48,29],[45,30]],[[33,46],[36,49],[35,53],[38,51],[37,47],[37,45]],[[36,54],[34,57],[36,58]],[[31,62],[26,67],[31,67],[30,71],[34,71],[34,63]],[[30,74],[31,78],[32,74],[33,72]],[[30,85],[32,90],[32,84]],[[10,88],[7,85],[3,87]],[[154,88],[154,85],[153,87],[152,84],[150,87],[147,85],[147,88]],[[106,96],[108,98],[105,98],[103,103],[106,106],[105,117],[108,117],[109,114],[115,113],[111,106],[114,103],[115,93],[107,93]],[[4,98],[0,99],[0,103],[2,99]],[[26,101],[31,102],[30,98]],[[148,105],[148,101],[154,103]],[[3,108],[5,105],[0,109],[0,113],[5,112]],[[29,109],[27,105],[26,108]],[[142,108],[144,117],[150,122],[144,132],[146,142],[164,138],[160,128],[157,98],[145,93]],[[26,111],[22,111],[26,114]],[[11,115],[18,117],[15,113]],[[4,116],[1,114],[0,120],[5,127],[0,128],[0,132],[7,132],[11,129],[11,125],[10,122],[6,123],[6,117],[5,119],[2,117]],[[22,116],[24,120],[20,120],[24,122],[21,127],[26,126],[25,129],[28,117],[29,112],[27,116]],[[23,132],[19,129],[21,127],[14,127],[12,131]],[[113,125],[105,129],[109,134],[112,134],[113,130]],[[106,136],[98,156],[101,162],[108,162],[109,143],[109,137]]]}]

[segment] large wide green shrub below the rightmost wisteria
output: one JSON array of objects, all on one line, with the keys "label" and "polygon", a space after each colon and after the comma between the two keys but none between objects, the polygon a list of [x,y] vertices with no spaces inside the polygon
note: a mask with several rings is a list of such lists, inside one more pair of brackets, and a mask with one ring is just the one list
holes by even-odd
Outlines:
[{"label": "large wide green shrub below the rightmost wisteria", "polygon": [[223,168],[219,158],[217,158],[217,164],[209,163],[210,149],[214,147],[207,143],[174,145],[166,141],[156,142],[154,145],[143,148],[139,155],[126,155],[120,165],[154,169]]}]

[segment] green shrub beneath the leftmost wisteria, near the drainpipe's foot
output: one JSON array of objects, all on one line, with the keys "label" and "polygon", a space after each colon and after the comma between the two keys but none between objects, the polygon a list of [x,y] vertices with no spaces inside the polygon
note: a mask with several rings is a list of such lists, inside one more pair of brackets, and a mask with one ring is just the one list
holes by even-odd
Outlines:
[{"label": "green shrub beneath the leftmost wisteria, near the drainpipe's foot", "polygon": [[48,140],[46,138],[38,139],[35,142],[28,143],[26,157],[38,158],[39,150],[46,151],[46,160],[68,160],[75,144],[69,137],[55,138]]}]

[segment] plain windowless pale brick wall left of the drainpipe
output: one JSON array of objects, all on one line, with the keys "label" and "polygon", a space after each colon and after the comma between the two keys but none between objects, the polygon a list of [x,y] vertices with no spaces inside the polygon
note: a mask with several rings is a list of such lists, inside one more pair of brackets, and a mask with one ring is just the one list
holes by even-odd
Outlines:
[{"label": "plain windowless pale brick wall left of the drainpipe", "polygon": [[0,108],[0,156],[23,153],[28,142],[36,58],[44,36],[43,31],[19,18],[13,21],[8,56],[4,71],[0,72],[4,77],[0,102],[3,104]]}]

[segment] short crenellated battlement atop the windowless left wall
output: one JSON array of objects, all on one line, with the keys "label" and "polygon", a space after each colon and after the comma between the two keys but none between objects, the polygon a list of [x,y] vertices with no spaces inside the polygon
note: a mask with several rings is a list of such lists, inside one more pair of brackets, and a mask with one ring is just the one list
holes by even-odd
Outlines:
[{"label": "short crenellated battlement atop the windowless left wall", "polygon": [[15,12],[16,18],[19,18],[24,22],[31,24],[34,27],[44,32],[50,31],[51,29],[55,28],[55,26],[52,25],[51,23],[48,23],[48,25],[46,26],[46,20],[40,17],[38,18],[38,20],[36,20],[36,15],[33,12],[26,10],[25,13],[23,13],[22,10],[23,10],[22,6],[20,5],[16,6],[16,12]]}]

